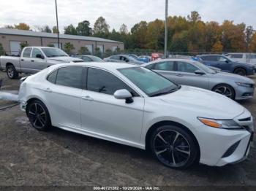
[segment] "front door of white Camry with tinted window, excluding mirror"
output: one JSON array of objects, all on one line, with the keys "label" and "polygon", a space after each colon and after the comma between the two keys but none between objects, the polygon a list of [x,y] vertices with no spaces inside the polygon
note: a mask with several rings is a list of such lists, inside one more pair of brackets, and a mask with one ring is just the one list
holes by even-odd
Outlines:
[{"label": "front door of white Camry with tinted window, excluding mirror", "polygon": [[[81,98],[82,128],[91,135],[120,143],[140,142],[144,98],[140,97],[114,74],[96,68],[88,69],[87,88]],[[133,103],[113,96],[116,90],[127,89]]]}]

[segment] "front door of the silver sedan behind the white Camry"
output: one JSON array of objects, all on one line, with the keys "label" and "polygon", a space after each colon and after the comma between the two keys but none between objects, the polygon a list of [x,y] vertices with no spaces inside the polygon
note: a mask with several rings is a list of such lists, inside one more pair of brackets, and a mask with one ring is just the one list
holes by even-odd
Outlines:
[{"label": "front door of the silver sedan behind the white Camry", "polygon": [[176,61],[176,83],[179,85],[190,85],[208,89],[208,76],[207,74],[195,74],[198,70],[197,66],[184,61]]}]

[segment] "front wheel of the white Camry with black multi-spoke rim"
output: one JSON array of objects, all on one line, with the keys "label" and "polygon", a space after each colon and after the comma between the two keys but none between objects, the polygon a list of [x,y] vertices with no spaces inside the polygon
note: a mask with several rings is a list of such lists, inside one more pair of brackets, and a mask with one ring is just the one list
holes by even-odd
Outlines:
[{"label": "front wheel of the white Camry with black multi-spoke rim", "polygon": [[189,168],[197,160],[199,150],[187,130],[164,125],[151,134],[150,148],[160,163],[170,168]]}]

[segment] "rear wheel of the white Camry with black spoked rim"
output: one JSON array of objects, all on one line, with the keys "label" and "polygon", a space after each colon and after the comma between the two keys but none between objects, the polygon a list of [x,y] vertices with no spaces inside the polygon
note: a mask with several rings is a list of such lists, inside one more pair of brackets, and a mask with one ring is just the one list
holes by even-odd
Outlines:
[{"label": "rear wheel of the white Camry with black spoked rim", "polygon": [[42,101],[34,100],[26,106],[29,122],[37,130],[48,130],[51,127],[50,114]]}]

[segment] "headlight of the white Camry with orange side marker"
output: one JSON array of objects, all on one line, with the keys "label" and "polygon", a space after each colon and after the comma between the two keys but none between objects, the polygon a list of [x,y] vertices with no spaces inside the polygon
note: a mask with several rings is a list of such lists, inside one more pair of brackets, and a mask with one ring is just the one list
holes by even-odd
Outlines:
[{"label": "headlight of the white Camry with orange side marker", "polygon": [[212,128],[242,129],[242,127],[234,120],[214,120],[203,117],[197,117],[197,119],[200,120],[200,122],[203,122],[204,125]]}]

